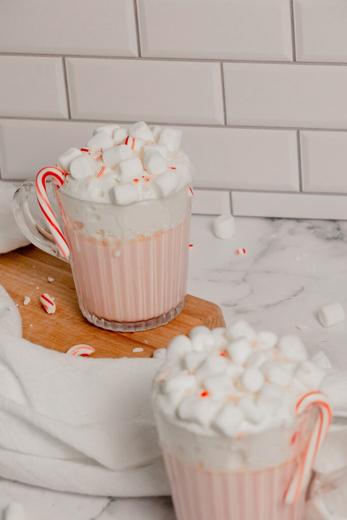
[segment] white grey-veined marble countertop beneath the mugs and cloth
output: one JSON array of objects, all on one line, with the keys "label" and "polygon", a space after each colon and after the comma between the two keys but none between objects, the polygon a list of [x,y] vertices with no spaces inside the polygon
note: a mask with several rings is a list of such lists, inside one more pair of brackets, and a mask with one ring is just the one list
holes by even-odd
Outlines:
[{"label": "white grey-veined marble countertop beneath the mugs and cloth", "polygon": [[[320,306],[347,308],[347,222],[237,218],[233,239],[212,233],[213,218],[193,216],[188,292],[222,307],[226,323],[298,333],[312,354],[324,350],[347,369],[347,325],[324,329]],[[237,256],[236,249],[246,255]],[[20,502],[27,520],[174,520],[171,500],[114,499],[60,493],[0,480],[0,510]]]}]

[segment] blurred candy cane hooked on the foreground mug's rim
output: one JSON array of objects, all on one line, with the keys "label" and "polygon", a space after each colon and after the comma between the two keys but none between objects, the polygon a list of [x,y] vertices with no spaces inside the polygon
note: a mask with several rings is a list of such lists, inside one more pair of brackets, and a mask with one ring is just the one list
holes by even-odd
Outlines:
[{"label": "blurred candy cane hooked on the foreground mug's rim", "polygon": [[321,392],[310,392],[304,395],[298,402],[295,412],[297,415],[300,415],[306,410],[309,410],[312,406],[318,408],[319,414],[306,451],[285,493],[286,504],[293,504],[298,499],[300,493],[306,489],[306,486],[309,484],[317,452],[324,443],[331,424],[332,413],[329,401]]}]

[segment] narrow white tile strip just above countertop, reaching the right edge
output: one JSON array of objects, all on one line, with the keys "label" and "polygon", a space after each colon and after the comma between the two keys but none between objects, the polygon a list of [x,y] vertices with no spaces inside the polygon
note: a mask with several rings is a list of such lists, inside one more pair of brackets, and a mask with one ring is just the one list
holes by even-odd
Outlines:
[{"label": "narrow white tile strip just above countertop, reaching the right edge", "polygon": [[347,196],[234,191],[233,214],[247,217],[347,219]]}]

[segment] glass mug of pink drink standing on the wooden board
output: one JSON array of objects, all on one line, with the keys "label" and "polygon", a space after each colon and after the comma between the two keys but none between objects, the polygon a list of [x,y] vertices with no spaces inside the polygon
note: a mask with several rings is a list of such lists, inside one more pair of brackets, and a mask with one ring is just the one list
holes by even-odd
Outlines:
[{"label": "glass mug of pink drink standing on the wooden board", "polygon": [[[147,125],[145,132],[150,133]],[[142,141],[142,149],[126,145],[112,148],[111,138],[101,131],[88,143],[100,139],[100,134],[105,134],[101,139],[105,139],[112,153],[121,152],[130,162],[136,158],[135,167],[151,164],[146,162],[146,153],[152,157],[154,153],[158,161],[159,152],[151,141],[136,139],[136,143]],[[135,139],[131,138],[131,142]],[[150,152],[146,151],[148,145],[152,148]],[[164,175],[151,175],[143,170],[137,172],[138,178],[120,182],[127,172],[125,167],[124,171],[115,169],[110,162],[107,164],[114,166],[113,169],[107,167],[103,161],[110,159],[104,159],[102,148],[99,152],[82,150],[73,152],[76,157],[70,166],[65,163],[70,150],[59,158],[58,164],[65,164],[66,170],[71,168],[70,174],[61,168],[47,167],[37,174],[36,182],[28,180],[18,188],[14,197],[17,223],[39,248],[70,262],[79,305],[88,321],[105,329],[127,332],[168,323],[182,311],[186,298],[192,196],[191,172],[187,167],[190,163],[179,150],[176,155],[181,153],[182,160],[172,158],[175,153],[169,153],[168,171]],[[81,158],[86,161],[82,168]],[[163,163],[164,159],[159,157],[159,163],[160,159]],[[117,168],[126,162],[129,161],[119,162]],[[73,170],[75,164],[79,169]],[[85,178],[81,179],[79,176],[84,173]],[[53,182],[46,186],[48,177]],[[128,190],[131,198],[125,191],[127,200],[120,200],[121,196],[124,199],[124,191],[116,194],[119,187]],[[63,232],[47,191],[57,199],[57,216]],[[35,192],[56,243],[38,232],[29,211],[27,199]],[[48,238],[52,240],[52,236]]]}]

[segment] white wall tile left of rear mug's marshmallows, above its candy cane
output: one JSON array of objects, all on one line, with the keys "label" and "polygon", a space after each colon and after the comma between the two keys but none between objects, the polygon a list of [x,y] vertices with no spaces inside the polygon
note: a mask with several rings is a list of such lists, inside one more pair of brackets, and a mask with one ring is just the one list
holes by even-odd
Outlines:
[{"label": "white wall tile left of rear mug's marshmallows, above its candy cane", "polygon": [[97,123],[0,120],[0,174],[3,179],[33,178],[54,165],[71,146],[82,147]]}]

